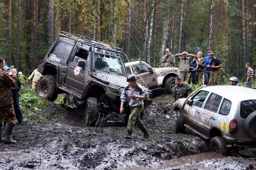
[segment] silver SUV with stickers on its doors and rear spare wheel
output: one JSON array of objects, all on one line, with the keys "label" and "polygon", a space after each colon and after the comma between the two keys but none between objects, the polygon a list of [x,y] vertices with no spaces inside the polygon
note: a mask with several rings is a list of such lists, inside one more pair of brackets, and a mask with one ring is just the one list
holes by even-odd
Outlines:
[{"label": "silver SUV with stickers on its doors and rear spare wheel", "polygon": [[213,152],[256,147],[256,90],[240,86],[201,88],[174,103],[176,132],[189,128],[210,140]]}]

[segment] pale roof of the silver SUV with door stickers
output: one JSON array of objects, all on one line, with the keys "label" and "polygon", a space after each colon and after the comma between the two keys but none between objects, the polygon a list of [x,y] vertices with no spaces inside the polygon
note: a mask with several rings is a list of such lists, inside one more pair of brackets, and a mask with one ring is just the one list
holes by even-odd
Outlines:
[{"label": "pale roof of the silver SUV with door stickers", "polygon": [[256,99],[256,90],[252,88],[245,88],[237,85],[217,85],[202,88],[201,90],[209,91],[231,101],[243,101],[249,99]]}]

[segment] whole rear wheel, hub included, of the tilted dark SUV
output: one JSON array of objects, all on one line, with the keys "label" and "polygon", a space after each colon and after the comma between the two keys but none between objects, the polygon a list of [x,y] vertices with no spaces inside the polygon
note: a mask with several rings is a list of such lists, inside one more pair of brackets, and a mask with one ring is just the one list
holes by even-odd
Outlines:
[{"label": "whole rear wheel, hub included, of the tilted dark SUV", "polygon": [[57,98],[56,78],[52,75],[43,76],[37,84],[36,92],[38,96],[44,97],[51,102]]}]

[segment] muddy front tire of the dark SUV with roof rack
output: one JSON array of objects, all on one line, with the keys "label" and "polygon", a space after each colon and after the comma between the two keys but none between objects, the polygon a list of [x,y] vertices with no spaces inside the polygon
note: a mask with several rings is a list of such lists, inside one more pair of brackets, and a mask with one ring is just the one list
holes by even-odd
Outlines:
[{"label": "muddy front tire of the dark SUV with roof rack", "polygon": [[85,107],[85,125],[94,126],[96,124],[99,116],[98,109],[98,99],[89,97]]}]

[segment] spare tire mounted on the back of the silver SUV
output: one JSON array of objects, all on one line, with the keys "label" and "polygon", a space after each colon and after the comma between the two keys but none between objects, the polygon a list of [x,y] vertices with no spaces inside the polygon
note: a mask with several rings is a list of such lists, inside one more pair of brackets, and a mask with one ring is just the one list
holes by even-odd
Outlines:
[{"label": "spare tire mounted on the back of the silver SUV", "polygon": [[244,121],[244,132],[251,139],[256,139],[256,111],[252,112],[247,116]]}]

